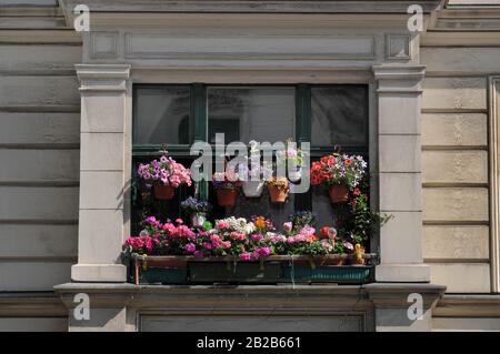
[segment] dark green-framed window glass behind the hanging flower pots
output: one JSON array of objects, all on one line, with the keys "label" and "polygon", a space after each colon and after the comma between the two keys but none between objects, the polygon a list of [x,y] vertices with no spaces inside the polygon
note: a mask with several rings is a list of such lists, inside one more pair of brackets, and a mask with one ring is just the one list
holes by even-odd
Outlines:
[{"label": "dark green-framed window glass behind the hanging flower pots", "polygon": [[[216,133],[231,141],[311,142],[311,160],[330,153],[336,145],[342,151],[368,159],[367,85],[163,85],[138,84],[133,90],[132,175],[140,162],[160,155],[162,143],[179,162],[190,165],[190,144],[201,140],[214,143]],[[172,201],[142,199],[140,185],[132,193],[132,232],[140,230],[146,214],[162,218],[181,216],[179,203],[192,195],[192,188],[181,188]],[[202,195],[214,205],[216,219],[229,215],[264,214],[277,224],[294,210],[312,210],[320,223],[331,224],[332,209],[328,193],[314,186],[304,194],[290,194],[287,203],[271,204],[240,195],[237,205],[217,205],[210,184]]]}]

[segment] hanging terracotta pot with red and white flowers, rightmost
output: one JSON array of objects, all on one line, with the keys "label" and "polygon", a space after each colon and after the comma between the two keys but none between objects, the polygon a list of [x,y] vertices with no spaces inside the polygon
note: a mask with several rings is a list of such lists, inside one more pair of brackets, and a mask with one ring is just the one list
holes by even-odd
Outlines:
[{"label": "hanging terracotta pot with red and white flowers, rightmost", "polygon": [[314,161],[311,166],[311,184],[329,185],[330,201],[342,204],[349,201],[349,192],[358,186],[366,173],[367,162],[360,155],[332,153]]}]

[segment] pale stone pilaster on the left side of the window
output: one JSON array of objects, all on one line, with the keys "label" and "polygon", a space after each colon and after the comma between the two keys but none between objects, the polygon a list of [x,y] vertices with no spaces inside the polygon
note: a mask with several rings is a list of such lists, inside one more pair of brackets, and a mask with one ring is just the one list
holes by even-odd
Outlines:
[{"label": "pale stone pilaster on the left side of the window", "polygon": [[[81,93],[80,213],[76,282],[124,282],[126,121],[130,65],[78,64]],[[129,158],[127,158],[129,159]]]}]

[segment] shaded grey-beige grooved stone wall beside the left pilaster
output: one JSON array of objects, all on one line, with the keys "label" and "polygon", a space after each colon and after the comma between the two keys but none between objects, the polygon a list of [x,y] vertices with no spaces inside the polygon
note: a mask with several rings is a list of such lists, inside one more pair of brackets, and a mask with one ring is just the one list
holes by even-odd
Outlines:
[{"label": "shaded grey-beige grooved stone wall beside the left pilaster", "polygon": [[52,290],[77,260],[81,44],[57,1],[41,2],[0,7],[0,291]]}]

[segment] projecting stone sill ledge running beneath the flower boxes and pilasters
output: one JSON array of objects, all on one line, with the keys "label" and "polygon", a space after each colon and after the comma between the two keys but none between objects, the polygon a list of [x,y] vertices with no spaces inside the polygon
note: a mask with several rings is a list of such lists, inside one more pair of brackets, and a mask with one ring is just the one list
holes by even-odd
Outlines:
[{"label": "projecting stone sill ledge running beneath the flower boxes and pilasters", "polygon": [[74,294],[86,293],[93,306],[162,307],[348,307],[406,306],[408,295],[419,293],[431,306],[446,287],[428,283],[371,283],[364,285],[134,285],[128,283],[67,283],[54,286],[63,303],[74,307]]}]

